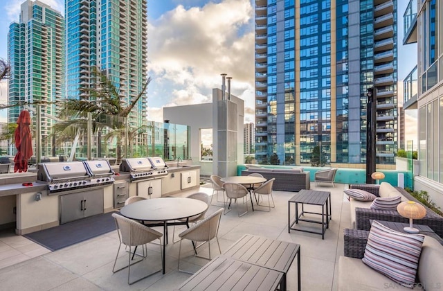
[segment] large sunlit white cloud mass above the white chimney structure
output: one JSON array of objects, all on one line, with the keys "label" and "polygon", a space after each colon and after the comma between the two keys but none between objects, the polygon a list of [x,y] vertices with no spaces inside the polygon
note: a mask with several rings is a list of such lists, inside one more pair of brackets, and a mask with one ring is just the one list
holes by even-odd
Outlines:
[{"label": "large sunlit white cloud mass above the white chimney structure", "polygon": [[[191,105],[212,100],[220,73],[253,112],[254,28],[249,0],[225,0],[189,9],[179,5],[150,24],[148,105]],[[172,89],[174,88],[174,89]],[[244,94],[247,92],[247,94]],[[252,92],[252,95],[251,95]],[[166,102],[164,102],[166,101]],[[148,119],[153,116],[148,114]]]}]

